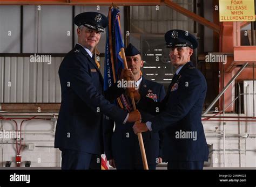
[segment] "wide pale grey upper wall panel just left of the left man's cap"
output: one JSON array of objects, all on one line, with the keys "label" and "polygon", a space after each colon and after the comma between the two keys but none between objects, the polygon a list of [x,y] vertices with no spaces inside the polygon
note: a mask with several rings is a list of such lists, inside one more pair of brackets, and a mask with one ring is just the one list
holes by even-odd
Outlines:
[{"label": "wide pale grey upper wall panel just left of the left man's cap", "polygon": [[23,6],[23,53],[68,53],[72,6]]}]

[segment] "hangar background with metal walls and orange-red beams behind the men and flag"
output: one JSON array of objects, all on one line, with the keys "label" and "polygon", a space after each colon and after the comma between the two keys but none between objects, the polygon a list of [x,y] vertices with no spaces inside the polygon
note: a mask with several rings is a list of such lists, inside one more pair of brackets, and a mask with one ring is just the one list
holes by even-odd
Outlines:
[{"label": "hangar background with metal walls and orange-red beams behind the men and flag", "polygon": [[[192,59],[208,85],[202,123],[210,154],[204,169],[255,168],[255,21],[220,22],[216,0],[112,2],[120,10],[124,44],[142,52],[143,75],[166,89],[175,69],[164,33],[176,28],[197,37]],[[60,168],[61,153],[53,147],[61,102],[58,68],[77,43],[73,18],[86,11],[107,15],[111,3],[0,2],[0,167]],[[105,40],[104,33],[98,45],[102,74]],[[38,54],[45,61],[33,61]],[[226,61],[208,62],[211,55]]]}]

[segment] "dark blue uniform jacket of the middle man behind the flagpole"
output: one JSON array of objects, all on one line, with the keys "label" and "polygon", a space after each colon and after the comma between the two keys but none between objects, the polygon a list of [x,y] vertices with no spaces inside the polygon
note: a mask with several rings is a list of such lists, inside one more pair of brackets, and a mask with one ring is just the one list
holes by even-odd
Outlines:
[{"label": "dark blue uniform jacket of the middle man behind the flagpole", "polygon": [[[165,96],[164,86],[142,79],[139,92],[143,96],[148,96],[152,102],[160,101]],[[152,99],[154,98],[154,100]],[[142,121],[145,123],[151,119],[152,114],[140,111]],[[132,126],[134,123],[116,123],[113,132],[114,121],[105,120],[103,123],[104,148],[107,160],[114,159],[116,165],[120,164],[142,164],[142,156],[140,154],[138,136],[134,134]],[[148,164],[156,164],[157,158],[161,157],[161,147],[163,145],[163,133],[161,132],[145,132],[142,133],[143,142]]]}]

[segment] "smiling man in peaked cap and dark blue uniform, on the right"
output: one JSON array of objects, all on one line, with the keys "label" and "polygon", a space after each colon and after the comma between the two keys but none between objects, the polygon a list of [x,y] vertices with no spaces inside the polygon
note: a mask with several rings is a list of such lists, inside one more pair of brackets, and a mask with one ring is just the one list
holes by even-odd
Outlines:
[{"label": "smiling man in peaked cap and dark blue uniform, on the right", "polygon": [[208,160],[208,148],[201,123],[201,112],[207,85],[203,74],[193,66],[190,57],[197,48],[197,39],[187,31],[171,30],[165,33],[170,59],[177,68],[162,102],[134,92],[139,110],[160,114],[146,123],[136,123],[134,133],[164,130],[163,159],[167,169],[203,169]]}]

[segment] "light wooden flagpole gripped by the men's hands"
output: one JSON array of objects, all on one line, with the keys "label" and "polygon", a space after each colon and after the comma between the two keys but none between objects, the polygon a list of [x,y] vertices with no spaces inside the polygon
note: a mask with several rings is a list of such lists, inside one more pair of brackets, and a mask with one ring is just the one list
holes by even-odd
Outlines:
[{"label": "light wooden flagpole gripped by the men's hands", "polygon": [[[126,57],[125,57],[125,52],[124,52],[123,47],[121,48],[121,55],[122,55],[122,59],[124,60],[124,68],[128,69],[127,62],[126,62]],[[130,81],[130,77],[128,77],[127,79],[128,79],[128,81]],[[131,99],[132,99],[133,109],[136,110],[136,104],[135,104],[135,101],[134,101],[133,92],[131,92]],[[141,121],[139,121],[139,122],[141,122]],[[147,166],[147,157],[146,157],[146,152],[145,152],[145,148],[144,148],[142,133],[138,133],[138,139],[139,139],[140,153],[142,154],[143,168],[145,170],[148,170],[149,166]]]}]

